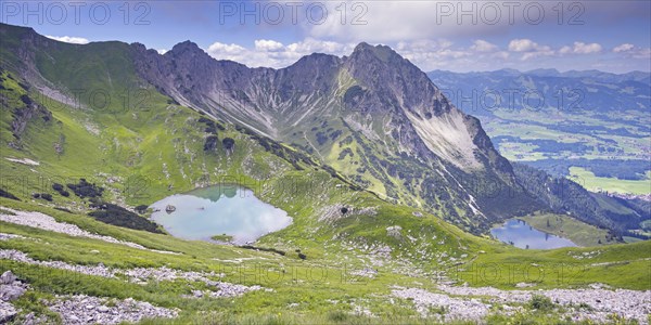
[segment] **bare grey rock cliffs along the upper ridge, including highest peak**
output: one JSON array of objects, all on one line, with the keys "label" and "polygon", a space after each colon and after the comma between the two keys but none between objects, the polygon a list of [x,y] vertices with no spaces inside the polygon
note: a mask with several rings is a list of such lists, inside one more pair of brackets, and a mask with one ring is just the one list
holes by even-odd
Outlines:
[{"label": "bare grey rock cliffs along the upper ridge, including highest peak", "polygon": [[344,58],[316,53],[283,69],[216,61],[188,41],[164,55],[132,48],[138,73],[162,92],[277,140],[288,140],[279,134],[311,117],[358,115],[367,122],[388,120],[386,131],[411,154],[438,156],[461,169],[482,168],[478,154],[509,172],[478,121],[451,106],[423,72],[387,47],[361,43]]}]

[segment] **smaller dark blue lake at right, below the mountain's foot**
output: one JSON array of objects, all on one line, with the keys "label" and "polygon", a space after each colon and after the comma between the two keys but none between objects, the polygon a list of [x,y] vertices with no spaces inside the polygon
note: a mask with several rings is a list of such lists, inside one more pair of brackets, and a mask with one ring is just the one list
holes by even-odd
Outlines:
[{"label": "smaller dark blue lake at right, below the mountain's foot", "polygon": [[526,248],[527,245],[531,249],[577,246],[567,238],[541,232],[519,219],[507,220],[502,226],[492,229],[490,234],[503,243],[513,243],[513,246],[518,248]]}]

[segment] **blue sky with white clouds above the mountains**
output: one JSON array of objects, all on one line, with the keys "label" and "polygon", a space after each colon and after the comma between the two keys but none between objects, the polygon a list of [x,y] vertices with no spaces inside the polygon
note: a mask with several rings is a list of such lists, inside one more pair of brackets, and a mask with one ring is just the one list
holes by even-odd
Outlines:
[{"label": "blue sky with white clouds above the mountains", "polygon": [[3,23],[67,42],[284,67],[312,52],[391,46],[423,70],[651,70],[651,1],[3,1]]}]

